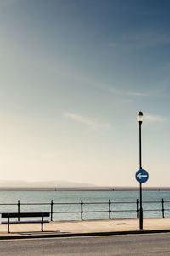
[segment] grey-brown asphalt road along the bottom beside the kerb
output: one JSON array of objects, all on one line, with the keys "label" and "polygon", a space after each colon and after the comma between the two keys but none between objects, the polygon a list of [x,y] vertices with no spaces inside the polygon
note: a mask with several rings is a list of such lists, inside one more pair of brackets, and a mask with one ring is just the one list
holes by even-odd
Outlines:
[{"label": "grey-brown asphalt road along the bottom beside the kerb", "polygon": [[0,255],[170,255],[170,233],[0,241]]}]

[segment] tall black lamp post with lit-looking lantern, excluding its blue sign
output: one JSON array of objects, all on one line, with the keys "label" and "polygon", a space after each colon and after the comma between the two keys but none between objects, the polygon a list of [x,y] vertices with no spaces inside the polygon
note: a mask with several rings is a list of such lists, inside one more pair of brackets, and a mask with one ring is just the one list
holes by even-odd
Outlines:
[{"label": "tall black lamp post with lit-looking lantern, excluding its blue sign", "polygon": [[[143,113],[138,113],[139,122],[139,169],[142,169],[142,143],[141,143],[141,126],[143,122]],[[142,208],[142,183],[140,183],[140,208],[139,208],[139,229],[143,230],[143,208]]]}]

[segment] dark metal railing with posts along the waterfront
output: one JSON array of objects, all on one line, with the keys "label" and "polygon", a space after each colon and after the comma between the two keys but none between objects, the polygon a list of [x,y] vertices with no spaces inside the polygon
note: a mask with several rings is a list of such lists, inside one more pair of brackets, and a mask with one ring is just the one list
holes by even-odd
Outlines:
[{"label": "dark metal railing with posts along the waterfront", "polygon": [[[144,208],[144,212],[161,212],[161,218],[165,218],[165,217],[170,217],[170,216],[165,216],[165,212],[170,211],[170,201],[164,201],[164,199],[161,199],[161,201],[143,201],[143,206],[144,205],[151,205],[153,206],[154,204],[156,204],[157,206],[160,206],[159,208],[148,208],[145,207]],[[167,207],[167,205],[169,204],[169,208]],[[105,205],[105,209],[93,209],[94,210],[86,210],[85,207],[88,206],[88,208],[90,206],[104,206]],[[127,208],[119,208],[117,206],[123,206],[123,205],[132,205],[135,206],[133,207],[133,209],[127,209]],[[15,210],[16,212],[20,212],[20,210],[22,210],[21,212],[25,212],[23,211],[23,206],[48,206],[48,212],[50,212],[50,219],[51,221],[54,220],[54,214],[70,214],[70,213],[78,213],[80,214],[80,219],[83,220],[84,219],[84,214],[86,213],[102,213],[102,212],[108,212],[108,219],[114,219],[114,213],[118,213],[118,212],[135,212],[135,216],[136,218],[139,218],[139,200],[137,199],[136,201],[111,201],[111,199],[107,202],[85,202],[85,201],[80,201],[80,202],[54,202],[53,200],[51,200],[48,203],[21,203],[20,200],[18,200],[17,203],[0,203],[0,207],[2,206],[16,206],[17,209]],[[54,206],[79,206],[79,210],[74,210],[74,211],[54,211]],[[8,210],[7,210],[8,211]],[[7,212],[6,211],[6,212]],[[8,211],[8,212],[11,212]],[[29,209],[28,211],[29,212]],[[3,213],[3,212],[0,212]],[[111,216],[112,213],[112,216]],[[75,219],[75,218],[74,218]],[[18,220],[20,221],[20,218],[18,218]]]}]

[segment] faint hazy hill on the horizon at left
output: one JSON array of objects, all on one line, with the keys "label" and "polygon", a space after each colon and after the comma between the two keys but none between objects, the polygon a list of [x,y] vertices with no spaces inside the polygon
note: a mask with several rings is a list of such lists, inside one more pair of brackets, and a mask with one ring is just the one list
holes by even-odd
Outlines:
[{"label": "faint hazy hill on the horizon at left", "polygon": [[0,180],[0,188],[75,188],[75,187],[95,187],[94,184],[75,183],[68,181],[43,181],[43,182],[26,182],[23,180]]}]

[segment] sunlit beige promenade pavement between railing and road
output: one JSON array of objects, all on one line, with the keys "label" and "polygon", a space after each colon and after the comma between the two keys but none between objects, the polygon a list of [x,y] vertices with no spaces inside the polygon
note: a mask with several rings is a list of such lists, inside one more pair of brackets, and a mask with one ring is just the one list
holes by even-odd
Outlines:
[{"label": "sunlit beige promenade pavement between railing and road", "polygon": [[170,218],[144,218],[143,230],[139,219],[53,221],[44,224],[0,224],[0,240],[34,237],[105,236],[134,233],[170,232]]}]

